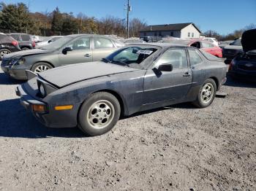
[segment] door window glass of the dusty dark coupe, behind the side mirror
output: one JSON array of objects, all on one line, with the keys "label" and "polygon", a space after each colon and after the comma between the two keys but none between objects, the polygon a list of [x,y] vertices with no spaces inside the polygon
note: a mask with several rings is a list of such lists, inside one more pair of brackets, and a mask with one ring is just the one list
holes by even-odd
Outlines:
[{"label": "door window glass of the dusty dark coupe, behind the side mirror", "polygon": [[184,49],[170,49],[166,50],[165,53],[161,55],[156,63],[156,66],[162,63],[170,63],[173,65],[174,69],[187,69],[187,54]]}]

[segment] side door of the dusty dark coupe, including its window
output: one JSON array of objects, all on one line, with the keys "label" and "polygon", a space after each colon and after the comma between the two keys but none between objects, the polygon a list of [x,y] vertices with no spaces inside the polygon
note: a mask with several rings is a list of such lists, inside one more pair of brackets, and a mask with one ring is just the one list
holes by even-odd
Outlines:
[{"label": "side door of the dusty dark coupe, including its window", "polygon": [[[158,66],[163,63],[172,64],[173,71],[158,71]],[[166,50],[151,68],[146,71],[144,79],[143,104],[178,101],[187,95],[192,84],[192,72],[186,48]]]}]

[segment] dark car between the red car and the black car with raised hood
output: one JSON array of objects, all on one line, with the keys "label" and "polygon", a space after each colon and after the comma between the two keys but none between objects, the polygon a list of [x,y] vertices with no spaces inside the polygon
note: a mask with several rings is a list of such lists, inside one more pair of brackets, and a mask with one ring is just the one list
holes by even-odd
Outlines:
[{"label": "dark car between the red car and the black car with raised hood", "polygon": [[243,47],[241,44],[241,38],[236,39],[235,41],[230,43],[230,45],[227,45],[222,49],[223,58],[227,58],[226,63],[228,64],[230,63],[230,61],[232,61],[233,58],[236,57],[236,55],[242,52]]}]

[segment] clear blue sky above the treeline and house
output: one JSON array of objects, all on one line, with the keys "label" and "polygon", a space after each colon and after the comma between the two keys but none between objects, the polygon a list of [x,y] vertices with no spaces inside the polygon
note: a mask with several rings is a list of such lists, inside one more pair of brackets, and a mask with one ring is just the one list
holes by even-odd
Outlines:
[{"label": "clear blue sky above the treeline and house", "polygon": [[[125,0],[0,0],[4,3],[23,2],[31,12],[51,12],[59,7],[61,12],[83,12],[97,18],[112,15],[126,17]],[[148,25],[170,23],[195,23],[201,31],[214,30],[228,34],[256,24],[256,0],[130,0],[130,17],[138,17]]]}]

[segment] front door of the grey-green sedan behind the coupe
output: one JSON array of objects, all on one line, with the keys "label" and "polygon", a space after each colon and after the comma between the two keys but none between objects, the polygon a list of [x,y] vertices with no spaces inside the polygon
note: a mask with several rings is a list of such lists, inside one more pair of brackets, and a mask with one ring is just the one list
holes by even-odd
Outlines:
[{"label": "front door of the grey-green sedan behind the coupe", "polygon": [[59,52],[60,66],[92,61],[91,36],[78,37],[67,44],[66,47],[71,47],[72,51],[68,51],[66,55],[63,52]]}]

